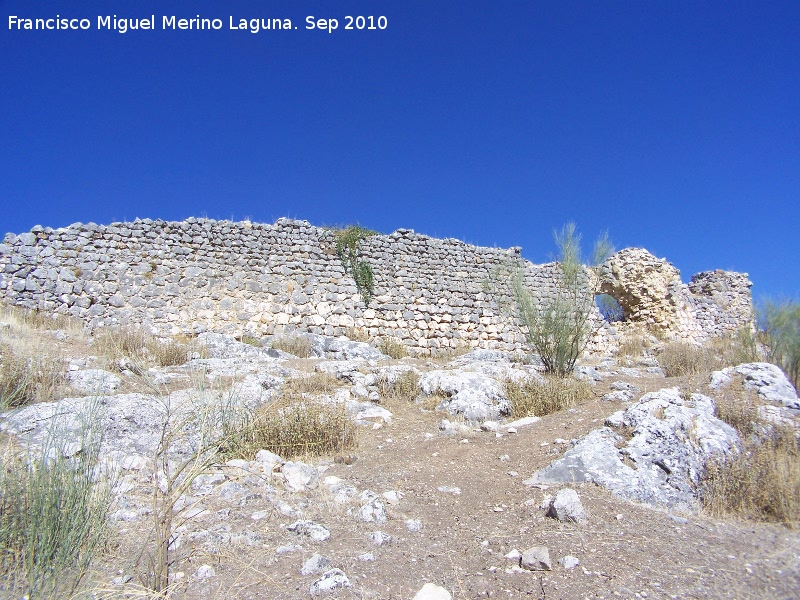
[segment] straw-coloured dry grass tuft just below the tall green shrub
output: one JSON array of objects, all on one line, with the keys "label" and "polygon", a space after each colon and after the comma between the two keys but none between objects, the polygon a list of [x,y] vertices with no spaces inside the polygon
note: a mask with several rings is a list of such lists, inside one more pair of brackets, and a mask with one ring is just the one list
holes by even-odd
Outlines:
[{"label": "straw-coloured dry grass tuft just below the tall green shrub", "polygon": [[546,376],[543,383],[507,379],[505,392],[514,418],[549,415],[592,397],[586,381],[554,376]]}]

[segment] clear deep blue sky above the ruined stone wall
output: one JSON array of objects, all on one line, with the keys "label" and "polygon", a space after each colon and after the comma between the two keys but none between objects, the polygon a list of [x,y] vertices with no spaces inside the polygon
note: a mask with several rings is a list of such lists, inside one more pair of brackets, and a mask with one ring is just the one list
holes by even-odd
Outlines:
[{"label": "clear deep blue sky above the ruined stone wall", "polygon": [[[157,28],[98,30],[114,14]],[[9,30],[56,15],[91,29]],[[0,231],[289,216],[545,262],[574,220],[684,281],[732,269],[756,296],[800,296],[796,0],[0,0],[0,16]]]}]

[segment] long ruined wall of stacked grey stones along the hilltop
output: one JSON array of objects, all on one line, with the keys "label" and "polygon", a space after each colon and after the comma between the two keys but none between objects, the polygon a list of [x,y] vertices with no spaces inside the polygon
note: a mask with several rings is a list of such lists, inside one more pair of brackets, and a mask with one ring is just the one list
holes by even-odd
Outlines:
[{"label": "long ruined wall of stacked grey stones along the hilltop", "polygon": [[[523,265],[537,297],[554,293],[557,273],[553,264],[524,261],[519,248],[483,248],[405,229],[368,238],[362,254],[375,274],[369,308],[331,235],[306,221],[145,219],[35,227],[7,234],[0,244],[0,298],[93,327],[138,324],[163,334],[234,335],[341,335],[356,328],[421,353],[465,346],[514,350],[523,337],[502,308],[510,305],[507,291],[497,291],[507,290],[502,284],[509,268]],[[746,294],[740,287],[731,291],[729,277],[719,273],[680,288],[691,304],[684,311],[690,323],[671,322],[667,329],[679,327],[678,337],[699,340],[749,322],[749,287]],[[591,348],[603,350],[614,339],[615,332],[602,327]]]}]

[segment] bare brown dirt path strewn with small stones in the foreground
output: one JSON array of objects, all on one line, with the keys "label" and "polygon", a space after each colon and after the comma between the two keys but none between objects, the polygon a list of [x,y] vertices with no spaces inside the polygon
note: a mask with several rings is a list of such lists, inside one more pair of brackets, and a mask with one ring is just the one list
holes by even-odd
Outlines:
[{"label": "bare brown dirt path strewn with small stones in the foreground", "polygon": [[[297,516],[273,510],[257,523],[246,515],[270,505],[248,499],[231,511],[227,525],[256,534],[258,542],[231,544],[216,555],[199,545],[193,552],[184,548],[185,558],[174,571],[192,574],[201,564],[215,569],[215,577],[207,580],[189,577],[186,597],[308,598],[320,575],[304,576],[300,569],[314,553],[347,574],[351,587],[333,593],[340,598],[405,600],[426,582],[445,587],[459,600],[798,596],[800,538],[782,526],[670,515],[591,484],[575,486],[586,525],[544,516],[542,503],[555,488],[528,487],[523,481],[563,451],[556,438],[568,440],[598,427],[617,405],[595,400],[502,437],[440,435],[441,413],[422,412],[413,404],[391,408],[395,415],[389,426],[362,432],[352,465],[322,461],[329,463],[324,476],[340,477],[359,492],[400,492],[397,504],[386,503],[386,523],[363,523],[348,515],[348,509],[358,510],[358,497],[339,504],[325,486],[282,496],[298,509]],[[298,517],[327,526],[330,539],[316,543],[289,533],[285,527]],[[410,531],[407,520],[418,520],[421,530]],[[198,519],[189,527],[207,525]],[[370,539],[376,530],[393,541],[377,547]],[[298,548],[276,553],[286,546]],[[515,568],[518,561],[505,558],[531,546],[549,548],[552,571],[521,571]],[[565,555],[577,557],[579,566],[560,566],[557,561]]]}]

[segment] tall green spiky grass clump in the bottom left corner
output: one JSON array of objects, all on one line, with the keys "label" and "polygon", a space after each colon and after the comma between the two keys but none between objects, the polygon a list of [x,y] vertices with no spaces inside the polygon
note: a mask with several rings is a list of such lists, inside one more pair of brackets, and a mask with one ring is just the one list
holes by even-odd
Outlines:
[{"label": "tall green spiky grass clump in the bottom left corner", "polygon": [[17,597],[70,597],[104,548],[111,484],[95,483],[94,417],[82,415],[78,453],[53,424],[42,448],[0,456],[0,587]]}]

